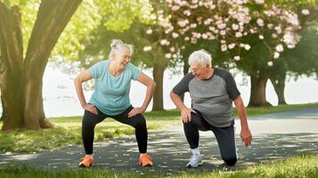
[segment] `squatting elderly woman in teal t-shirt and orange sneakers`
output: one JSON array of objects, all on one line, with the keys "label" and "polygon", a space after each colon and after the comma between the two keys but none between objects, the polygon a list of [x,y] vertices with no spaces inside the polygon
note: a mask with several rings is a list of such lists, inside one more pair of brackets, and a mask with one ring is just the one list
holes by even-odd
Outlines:
[{"label": "squatting elderly woman in teal t-shirt and orange sneakers", "polygon": [[[142,113],[151,101],[156,83],[129,63],[133,53],[132,45],[113,40],[110,46],[109,60],[97,62],[90,69],[80,73],[74,80],[78,99],[82,108],[85,109],[82,138],[86,157],[82,158],[79,166],[94,166],[94,127],[106,117],[112,117],[120,123],[135,127],[135,137],[140,152],[139,165],[153,166],[153,162],[147,154],[148,132]],[[92,78],[95,81],[95,90],[91,100],[87,103],[82,83]],[[132,79],[147,86],[143,105],[138,108],[134,108],[129,101]]]}]

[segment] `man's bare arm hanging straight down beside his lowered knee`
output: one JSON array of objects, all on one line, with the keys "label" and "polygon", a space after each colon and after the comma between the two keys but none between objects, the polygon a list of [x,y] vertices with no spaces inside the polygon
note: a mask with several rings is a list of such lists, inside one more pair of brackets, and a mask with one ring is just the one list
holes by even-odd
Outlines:
[{"label": "man's bare arm hanging straight down beside his lowered knee", "polygon": [[248,147],[252,142],[252,134],[249,131],[247,112],[241,96],[236,97],[233,102],[241,120],[241,141]]}]

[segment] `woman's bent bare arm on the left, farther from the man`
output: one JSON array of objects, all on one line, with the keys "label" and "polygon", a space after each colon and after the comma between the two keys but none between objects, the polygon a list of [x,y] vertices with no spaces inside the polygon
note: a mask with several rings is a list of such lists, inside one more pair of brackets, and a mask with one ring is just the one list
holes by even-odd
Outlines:
[{"label": "woman's bent bare arm on the left, farther from the man", "polygon": [[75,85],[75,89],[77,91],[78,100],[79,100],[82,108],[94,113],[95,115],[98,115],[97,109],[93,105],[87,104],[84,93],[83,93],[82,84],[84,82],[86,82],[87,80],[90,80],[92,78],[93,77],[88,72],[88,70],[85,70],[85,71],[81,72],[77,77],[75,77],[74,85]]}]

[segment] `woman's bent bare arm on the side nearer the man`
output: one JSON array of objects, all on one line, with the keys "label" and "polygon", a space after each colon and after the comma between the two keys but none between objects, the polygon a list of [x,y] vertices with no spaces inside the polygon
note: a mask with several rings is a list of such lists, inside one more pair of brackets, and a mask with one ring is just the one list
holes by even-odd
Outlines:
[{"label": "woman's bent bare arm on the side nearer the man", "polygon": [[147,91],[146,91],[146,97],[143,101],[143,105],[142,107],[140,108],[135,108],[135,109],[132,109],[129,113],[128,113],[128,117],[134,117],[135,115],[137,114],[141,114],[143,113],[149,103],[151,102],[151,98],[152,98],[152,95],[154,93],[154,90],[155,90],[155,87],[156,87],[156,83],[151,79],[151,77],[148,77],[147,75],[142,74],[137,78],[137,81],[142,83],[143,85],[147,86]]}]

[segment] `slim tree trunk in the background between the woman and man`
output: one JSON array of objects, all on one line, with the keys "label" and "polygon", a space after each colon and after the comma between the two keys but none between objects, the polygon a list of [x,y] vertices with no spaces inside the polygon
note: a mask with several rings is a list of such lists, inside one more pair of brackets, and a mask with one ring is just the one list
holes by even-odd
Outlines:
[{"label": "slim tree trunk in the background between the woman and man", "polygon": [[153,79],[157,83],[155,92],[153,94],[152,110],[164,110],[163,108],[163,75],[165,65],[155,63],[153,65]]}]

